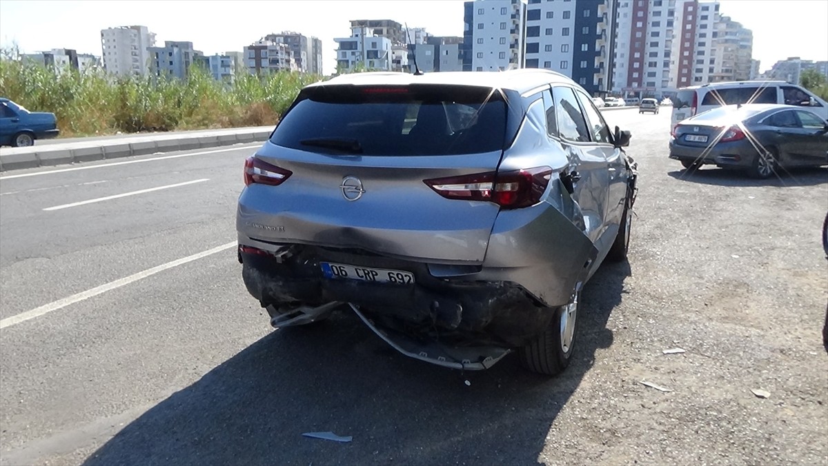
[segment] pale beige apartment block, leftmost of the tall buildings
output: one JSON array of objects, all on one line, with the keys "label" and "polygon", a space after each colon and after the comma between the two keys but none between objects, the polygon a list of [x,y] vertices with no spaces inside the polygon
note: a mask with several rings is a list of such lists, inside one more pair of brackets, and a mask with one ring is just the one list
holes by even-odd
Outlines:
[{"label": "pale beige apartment block, leftmost of the tall buildings", "polygon": [[149,47],[155,46],[155,34],[147,26],[118,26],[101,30],[103,68],[119,76],[146,75]]}]

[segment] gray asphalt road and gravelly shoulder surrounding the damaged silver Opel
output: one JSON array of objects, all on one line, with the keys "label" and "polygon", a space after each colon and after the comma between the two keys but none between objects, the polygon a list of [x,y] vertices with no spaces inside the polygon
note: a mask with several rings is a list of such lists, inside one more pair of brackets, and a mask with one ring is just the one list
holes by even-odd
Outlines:
[{"label": "gray asphalt road and gravelly shoulder surrounding the damaged silver Opel", "polygon": [[354,315],[270,329],[233,247],[255,145],[7,172],[0,464],[828,463],[828,170],[688,174],[669,112],[606,118],[641,173],[629,262],[551,379],[421,363]]}]

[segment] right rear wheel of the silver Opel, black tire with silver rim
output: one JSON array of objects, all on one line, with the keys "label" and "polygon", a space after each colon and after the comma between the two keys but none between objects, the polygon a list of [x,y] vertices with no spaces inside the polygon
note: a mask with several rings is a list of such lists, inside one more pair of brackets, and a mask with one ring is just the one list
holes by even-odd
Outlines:
[{"label": "right rear wheel of the silver Opel, black tire with silver rim", "polygon": [[[579,309],[580,291],[575,293],[572,303],[555,308],[555,315],[549,327],[532,342],[520,348],[520,362],[524,368],[539,374],[554,376],[569,366],[572,350],[575,348],[575,324],[578,322]],[[561,319],[565,315],[567,319],[571,319],[569,321],[571,327],[567,328],[568,345],[562,343],[564,331],[561,329]]]}]

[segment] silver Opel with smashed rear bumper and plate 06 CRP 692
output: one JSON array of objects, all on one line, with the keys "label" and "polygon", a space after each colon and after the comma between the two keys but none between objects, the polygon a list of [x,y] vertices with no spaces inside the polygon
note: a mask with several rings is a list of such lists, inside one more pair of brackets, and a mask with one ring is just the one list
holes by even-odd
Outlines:
[{"label": "silver Opel with smashed rear bumper and plate 06 CRP 692", "polygon": [[582,286],[627,254],[629,138],[546,70],[311,84],[245,162],[244,283],[274,327],[349,309],[413,358],[555,374]]}]

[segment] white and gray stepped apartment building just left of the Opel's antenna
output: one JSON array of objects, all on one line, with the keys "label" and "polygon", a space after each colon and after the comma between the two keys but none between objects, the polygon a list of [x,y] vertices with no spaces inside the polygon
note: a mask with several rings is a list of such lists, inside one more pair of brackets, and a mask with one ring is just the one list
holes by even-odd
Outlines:
[{"label": "white and gray stepped apartment building just left of the Opel's antenna", "polygon": [[[385,21],[388,20],[383,20]],[[347,72],[362,66],[367,70],[392,70],[392,40],[387,36],[378,36],[376,33],[380,31],[383,28],[379,26],[351,26],[350,37],[335,38],[334,41],[339,44],[336,49],[336,69]],[[405,52],[404,42],[394,43],[403,47],[403,52],[398,53]],[[402,60],[402,56],[399,60]]]}]

